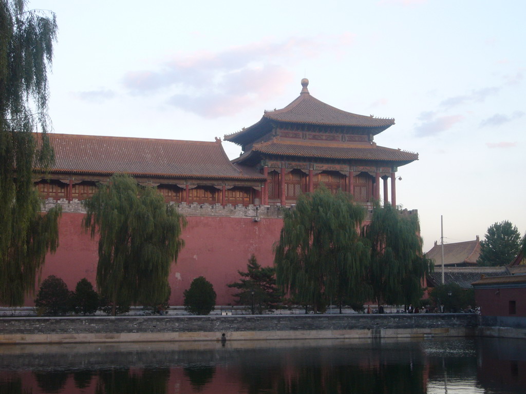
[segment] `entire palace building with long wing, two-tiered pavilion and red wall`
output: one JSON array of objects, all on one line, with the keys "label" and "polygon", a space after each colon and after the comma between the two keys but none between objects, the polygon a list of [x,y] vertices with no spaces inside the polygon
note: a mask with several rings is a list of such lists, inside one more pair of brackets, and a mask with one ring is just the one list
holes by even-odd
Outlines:
[{"label": "entire palace building with long wing, two-tiered pavilion and red wall", "polygon": [[186,245],[169,278],[172,305],[182,305],[183,291],[200,275],[214,285],[219,305],[232,303],[226,284],[238,280],[238,270],[246,271],[251,254],[264,266],[272,264],[282,210],[322,183],[363,204],[380,200],[383,189],[383,200],[396,205],[397,168],[418,154],[374,142],[395,121],[331,107],[309,94],[307,79],[301,85],[288,106],[265,111],[254,125],[225,136],[242,148],[232,161],[218,138],[49,134],[55,164],[46,176],[35,174],[35,188],[45,209],[60,204],[64,213],[60,246],[47,256],[42,276],[62,277],[70,289],[83,277],[95,283],[97,246],[80,227],[81,202],[116,172],[155,186],[186,216]]}]

